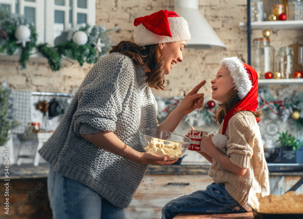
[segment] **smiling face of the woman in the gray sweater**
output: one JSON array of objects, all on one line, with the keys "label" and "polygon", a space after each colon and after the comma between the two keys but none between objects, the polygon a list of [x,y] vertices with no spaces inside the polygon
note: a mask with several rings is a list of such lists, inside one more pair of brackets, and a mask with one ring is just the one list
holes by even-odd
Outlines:
[{"label": "smiling face of the woman in the gray sweater", "polygon": [[185,48],[185,41],[159,43],[158,45],[164,59],[164,74],[168,75],[177,62],[183,61],[182,51]]}]

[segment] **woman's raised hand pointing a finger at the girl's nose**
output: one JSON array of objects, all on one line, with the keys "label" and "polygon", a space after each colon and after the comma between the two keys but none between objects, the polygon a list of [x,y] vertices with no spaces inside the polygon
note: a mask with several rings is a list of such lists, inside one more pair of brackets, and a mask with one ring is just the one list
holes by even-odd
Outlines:
[{"label": "woman's raised hand pointing a finger at the girl's nose", "polygon": [[197,92],[203,85],[205,85],[205,83],[206,81],[204,80],[195,86],[194,89],[192,89],[177,106],[177,108],[181,111],[181,113],[183,113],[184,116],[188,113],[191,113],[195,109],[201,108],[201,105],[204,101],[204,94]]}]

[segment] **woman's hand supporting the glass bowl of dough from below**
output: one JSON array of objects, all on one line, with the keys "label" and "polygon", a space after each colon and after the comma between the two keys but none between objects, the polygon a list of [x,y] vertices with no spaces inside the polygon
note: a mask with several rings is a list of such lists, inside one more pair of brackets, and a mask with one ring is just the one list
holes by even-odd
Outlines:
[{"label": "woman's hand supporting the glass bowl of dough from below", "polygon": [[175,160],[168,161],[170,158],[169,155],[158,156],[151,152],[141,153],[140,164],[152,164],[152,165],[170,165],[178,161],[178,158]]}]

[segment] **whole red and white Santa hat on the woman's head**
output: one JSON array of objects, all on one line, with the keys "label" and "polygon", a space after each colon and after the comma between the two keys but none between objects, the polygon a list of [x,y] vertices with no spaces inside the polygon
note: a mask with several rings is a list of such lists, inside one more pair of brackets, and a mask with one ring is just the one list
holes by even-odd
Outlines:
[{"label": "whole red and white Santa hat on the woman's head", "polygon": [[191,39],[187,21],[172,11],[135,18],[134,25],[135,43],[140,46]]}]

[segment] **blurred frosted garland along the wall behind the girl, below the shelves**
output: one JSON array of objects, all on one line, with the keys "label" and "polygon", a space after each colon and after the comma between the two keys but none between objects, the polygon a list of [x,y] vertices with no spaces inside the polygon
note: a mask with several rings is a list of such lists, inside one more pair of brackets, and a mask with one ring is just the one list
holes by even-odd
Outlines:
[{"label": "blurred frosted garland along the wall behind the girl, below the shelves", "polygon": [[[291,93],[290,93],[291,92]],[[276,97],[273,96],[268,86],[259,87],[258,90],[258,110],[262,110],[264,115],[271,119],[280,118],[286,122],[288,119],[295,121],[297,127],[303,128],[303,91],[295,91],[285,88]],[[182,97],[161,98],[156,97],[158,104],[158,120],[164,120],[181,102]],[[218,104],[209,99],[200,109],[195,109],[186,115],[183,120],[189,125],[215,125],[215,113]]]}]

